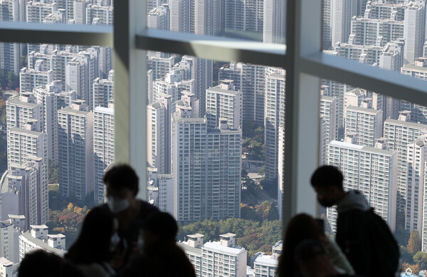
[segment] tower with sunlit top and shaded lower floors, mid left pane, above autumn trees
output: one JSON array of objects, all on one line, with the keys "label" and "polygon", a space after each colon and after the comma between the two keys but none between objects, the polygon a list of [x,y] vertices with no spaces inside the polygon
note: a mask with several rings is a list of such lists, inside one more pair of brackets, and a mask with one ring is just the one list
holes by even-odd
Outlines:
[{"label": "tower with sunlit top and shaded lower floors, mid left pane, above autumn trees", "polygon": [[58,110],[59,192],[83,200],[93,191],[93,113],[84,100]]}]

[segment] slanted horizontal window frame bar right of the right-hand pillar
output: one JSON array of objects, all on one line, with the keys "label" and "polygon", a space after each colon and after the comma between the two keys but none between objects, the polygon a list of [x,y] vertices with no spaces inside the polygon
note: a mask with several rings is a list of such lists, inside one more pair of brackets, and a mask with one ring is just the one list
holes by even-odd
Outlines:
[{"label": "slanted horizontal window frame bar right of the right-hand pillar", "polygon": [[312,53],[299,60],[300,69],[310,75],[427,106],[426,80],[325,53]]}]

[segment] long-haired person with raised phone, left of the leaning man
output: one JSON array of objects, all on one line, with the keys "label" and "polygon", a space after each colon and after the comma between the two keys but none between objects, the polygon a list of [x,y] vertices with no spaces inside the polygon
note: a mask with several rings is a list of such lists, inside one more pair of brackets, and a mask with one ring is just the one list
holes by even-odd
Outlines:
[{"label": "long-haired person with raised phone, left of the leaning man", "polygon": [[283,251],[279,258],[280,276],[301,276],[294,254],[298,244],[305,240],[320,241],[334,268],[342,273],[354,274],[352,266],[339,247],[320,233],[315,219],[308,214],[297,214],[290,219],[286,227]]}]

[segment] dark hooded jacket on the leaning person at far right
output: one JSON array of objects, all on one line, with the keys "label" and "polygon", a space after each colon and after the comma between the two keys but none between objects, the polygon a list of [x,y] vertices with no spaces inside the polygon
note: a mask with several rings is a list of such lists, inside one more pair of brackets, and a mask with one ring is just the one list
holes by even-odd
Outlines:
[{"label": "dark hooded jacket on the leaning person at far right", "polygon": [[[398,246],[389,227],[374,214],[364,195],[357,191],[347,192],[337,204],[337,212],[336,241],[354,271],[362,276],[394,276],[398,264],[396,268],[384,268],[380,261],[391,255],[385,253],[386,249],[398,249]],[[380,247],[384,243],[393,245]],[[384,275],[385,271],[389,273]]]}]

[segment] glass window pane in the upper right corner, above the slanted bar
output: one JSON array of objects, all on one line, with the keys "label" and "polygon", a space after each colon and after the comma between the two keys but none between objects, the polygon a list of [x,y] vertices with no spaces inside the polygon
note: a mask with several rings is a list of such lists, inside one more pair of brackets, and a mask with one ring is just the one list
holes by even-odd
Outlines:
[{"label": "glass window pane in the upper right corner, above the slanted bar", "polygon": [[386,70],[425,70],[425,18],[423,1],[323,0],[322,47]]}]

